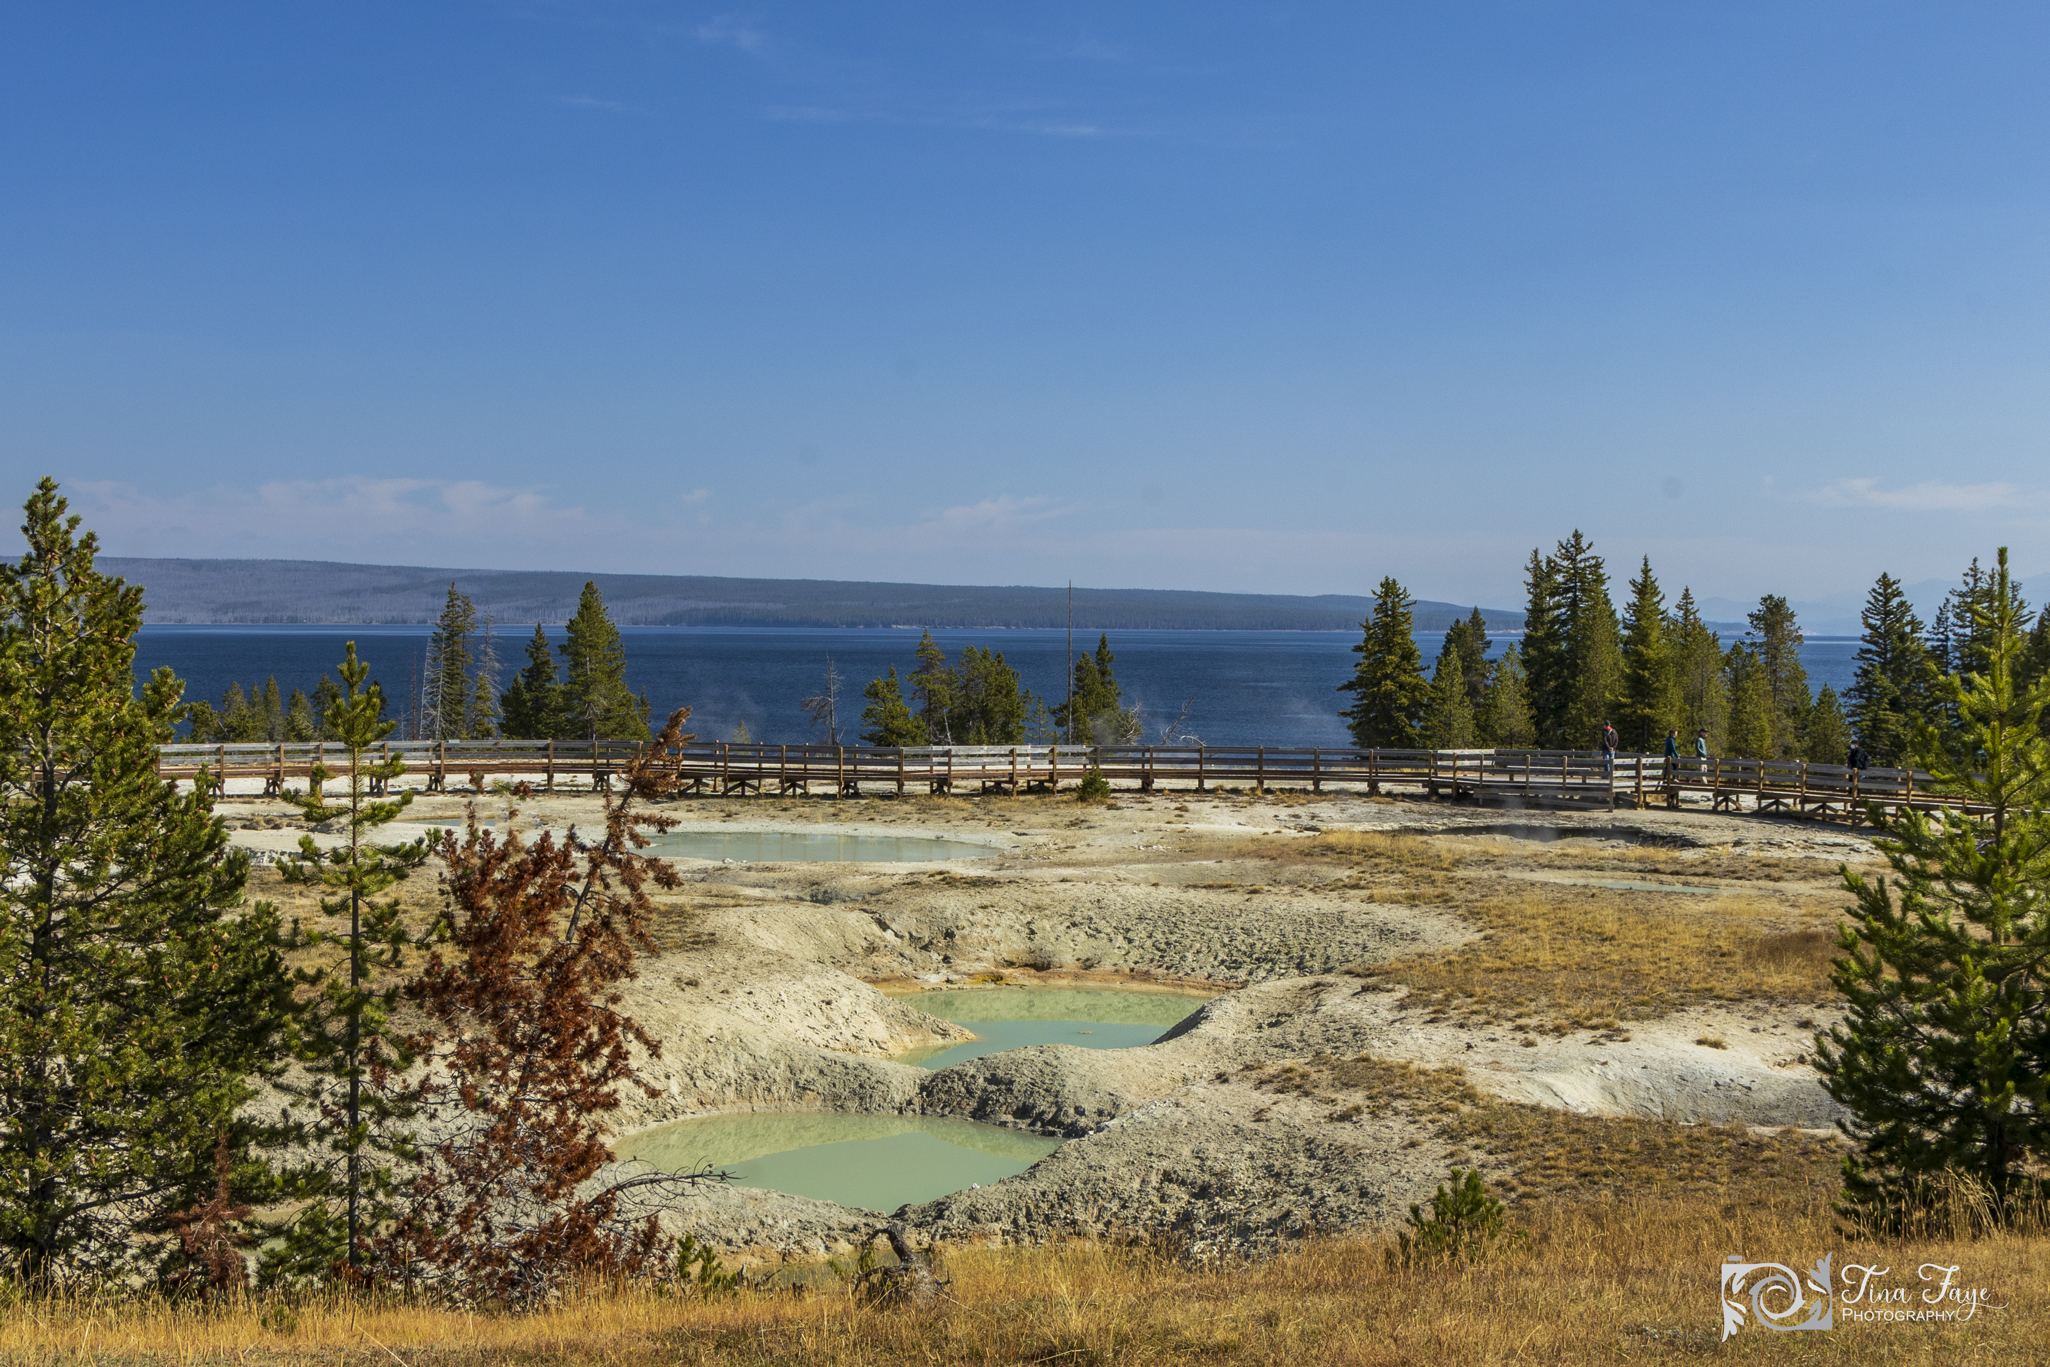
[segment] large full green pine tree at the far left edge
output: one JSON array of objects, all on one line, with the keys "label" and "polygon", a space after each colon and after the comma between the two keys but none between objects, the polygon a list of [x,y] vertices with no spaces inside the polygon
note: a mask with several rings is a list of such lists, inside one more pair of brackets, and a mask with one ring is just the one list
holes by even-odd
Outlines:
[{"label": "large full green pine tree at the far left edge", "polygon": [[246,1078],[291,1017],[277,912],[203,791],[156,777],[180,682],[137,689],[141,590],[53,480],[0,566],[0,1248],[29,1285],[121,1285],[137,1234],[258,1176]]}]

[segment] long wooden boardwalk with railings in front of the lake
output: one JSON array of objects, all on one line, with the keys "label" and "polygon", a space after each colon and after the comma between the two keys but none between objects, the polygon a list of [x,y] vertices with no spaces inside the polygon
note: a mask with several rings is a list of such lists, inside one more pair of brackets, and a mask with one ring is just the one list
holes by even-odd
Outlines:
[{"label": "long wooden boardwalk with railings in front of the lake", "polygon": [[[402,787],[430,793],[482,791],[492,781],[541,789],[609,787],[640,752],[631,740],[449,740],[394,742],[377,758],[404,758]],[[281,793],[303,787],[316,762],[336,771],[332,742],[162,746],[170,781],[225,783],[225,791]],[[769,746],[691,742],[668,752],[689,793],[1023,793],[1074,785],[1097,767],[1113,785],[1207,791],[1220,787],[1406,791],[1449,801],[1505,805],[1679,807],[1706,797],[1716,812],[1792,812],[1863,820],[1888,810],[1956,807],[1909,769],[1808,764],[1802,760],[1683,758],[1591,750],[1357,750],[1283,746]],[[332,777],[330,777],[332,781]]]}]

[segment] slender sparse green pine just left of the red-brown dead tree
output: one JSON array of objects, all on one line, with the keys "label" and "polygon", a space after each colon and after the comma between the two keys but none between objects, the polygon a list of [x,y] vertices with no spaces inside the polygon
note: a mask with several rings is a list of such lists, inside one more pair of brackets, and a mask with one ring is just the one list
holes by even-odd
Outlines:
[{"label": "slender sparse green pine just left of the red-brown dead tree", "polygon": [[406,1107],[385,1084],[392,1074],[410,1068],[412,1058],[400,1033],[392,1029],[392,1004],[400,982],[396,971],[406,951],[406,926],[400,900],[379,902],[428,855],[424,840],[375,844],[371,836],[412,805],[412,793],[375,797],[406,771],[406,760],[373,760],[371,748],[385,740],[396,723],[383,715],[383,691],[369,680],[369,664],[357,660],[357,644],[348,641],[340,666],[340,699],[328,711],[328,728],[340,742],[338,756],[348,764],[346,789],[340,801],[324,797],[334,777],[324,764],[314,767],[308,793],[287,793],[305,822],[338,822],[346,844],[322,851],[312,836],[299,840],[299,853],[279,863],[287,883],[326,889],[320,900],[330,918],[348,918],[346,930],[314,928],[299,941],[308,951],[332,945],[340,949],[342,965],[301,969],[301,982],[320,988],[318,1004],[308,1017],[305,1082],[285,1086],[312,1109],[299,1117],[301,1144],[314,1158],[291,1174],[289,1199],[295,1213],[281,1242],[264,1256],[264,1279],[320,1281],[344,1267],[344,1277],[359,1277],[369,1232],[389,1219],[394,1183],[381,1156],[404,1154],[410,1135],[402,1129]]}]

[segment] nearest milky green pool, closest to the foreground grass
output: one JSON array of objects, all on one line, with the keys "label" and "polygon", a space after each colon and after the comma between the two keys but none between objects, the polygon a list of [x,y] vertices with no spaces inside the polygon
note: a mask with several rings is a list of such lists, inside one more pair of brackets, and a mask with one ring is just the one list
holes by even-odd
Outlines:
[{"label": "nearest milky green pool, closest to the foreground grass", "polygon": [[929,1115],[707,1115],[617,1146],[668,1172],[709,1162],[740,1187],[871,1211],[933,1201],[1023,1172],[1060,1140]]}]

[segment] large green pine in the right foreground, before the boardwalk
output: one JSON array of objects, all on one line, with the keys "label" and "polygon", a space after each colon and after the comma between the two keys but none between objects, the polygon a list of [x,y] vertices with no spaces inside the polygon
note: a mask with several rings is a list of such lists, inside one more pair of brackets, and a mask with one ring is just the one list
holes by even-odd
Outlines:
[{"label": "large green pine in the right foreground, before the boardwalk", "polygon": [[[1857,898],[1833,982],[1847,1019],[1816,1068],[1851,1113],[1847,1209],[1898,1224],[1945,1172],[1982,1180],[2001,1215],[2046,1195],[2050,1160],[2050,685],[2015,687],[2025,619],[2003,547],[1966,629],[1984,668],[1941,682],[1954,732],[1923,728],[1915,762],[1980,810],[1874,810],[1894,879],[1845,873]],[[1898,896],[1898,902],[1896,902]]]}]

